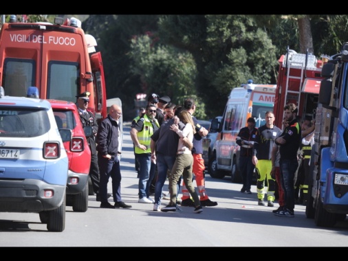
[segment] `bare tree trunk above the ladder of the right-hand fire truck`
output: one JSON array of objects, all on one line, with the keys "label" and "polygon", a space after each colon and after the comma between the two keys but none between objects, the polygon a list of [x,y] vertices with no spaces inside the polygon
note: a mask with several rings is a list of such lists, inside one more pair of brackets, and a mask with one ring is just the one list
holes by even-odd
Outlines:
[{"label": "bare tree trunk above the ladder of the right-hand fire truck", "polygon": [[314,54],[313,37],[309,17],[306,15],[298,18],[297,23],[301,54],[305,54],[307,49],[309,53]]}]

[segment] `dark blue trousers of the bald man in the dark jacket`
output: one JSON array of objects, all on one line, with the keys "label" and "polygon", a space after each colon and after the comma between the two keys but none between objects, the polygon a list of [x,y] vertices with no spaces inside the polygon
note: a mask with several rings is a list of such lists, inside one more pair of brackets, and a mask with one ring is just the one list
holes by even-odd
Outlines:
[{"label": "dark blue trousers of the bald man in the dark jacket", "polygon": [[111,177],[112,196],[114,202],[122,201],[121,198],[121,170],[120,161],[115,156],[113,159],[105,159],[98,153],[98,166],[100,173],[99,194],[100,201],[107,202],[107,183]]}]

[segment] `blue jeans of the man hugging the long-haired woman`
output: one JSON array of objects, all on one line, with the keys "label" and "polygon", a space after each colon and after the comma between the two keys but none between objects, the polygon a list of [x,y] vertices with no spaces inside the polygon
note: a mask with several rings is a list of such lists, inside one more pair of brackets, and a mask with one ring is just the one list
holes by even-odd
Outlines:
[{"label": "blue jeans of the man hugging the long-haired woman", "polygon": [[[156,154],[157,161],[157,181],[155,185],[155,204],[161,205],[162,189],[164,182],[166,181],[167,171],[171,171],[174,165],[176,157],[165,156],[163,154]],[[177,194],[180,190],[181,178],[177,182]]]}]

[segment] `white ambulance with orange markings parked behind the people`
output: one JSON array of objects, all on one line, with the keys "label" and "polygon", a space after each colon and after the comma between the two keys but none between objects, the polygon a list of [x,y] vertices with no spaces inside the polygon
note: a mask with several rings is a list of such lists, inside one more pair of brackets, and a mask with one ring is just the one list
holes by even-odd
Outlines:
[{"label": "white ambulance with orange markings parked behind the people", "polygon": [[232,89],[221,123],[213,120],[211,126],[219,133],[208,162],[211,177],[223,179],[228,175],[232,182],[241,182],[236,137],[239,130],[247,126],[248,117],[254,117],[257,128],[265,124],[265,112],[273,111],[275,92],[275,84],[253,84],[252,80]]}]

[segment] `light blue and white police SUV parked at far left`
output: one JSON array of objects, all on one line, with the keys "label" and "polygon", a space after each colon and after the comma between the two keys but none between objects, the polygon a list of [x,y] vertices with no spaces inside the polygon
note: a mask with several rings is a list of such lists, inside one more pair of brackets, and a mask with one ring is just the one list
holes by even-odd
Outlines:
[{"label": "light blue and white police SUV parked at far left", "polygon": [[0,87],[0,212],[39,213],[49,231],[65,229],[68,159],[61,135],[50,102],[5,96]]}]

